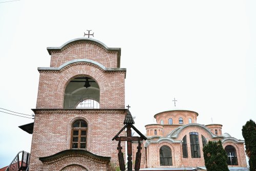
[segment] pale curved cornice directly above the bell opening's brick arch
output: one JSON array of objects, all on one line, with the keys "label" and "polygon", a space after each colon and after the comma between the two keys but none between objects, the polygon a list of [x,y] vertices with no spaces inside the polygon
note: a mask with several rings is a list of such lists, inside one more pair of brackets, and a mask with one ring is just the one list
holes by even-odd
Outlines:
[{"label": "pale curved cornice directly above the bell opening's brick arch", "polygon": [[52,70],[52,71],[60,71],[61,69],[65,68],[68,65],[71,65],[72,63],[78,63],[78,62],[87,62],[87,63],[92,63],[98,67],[100,67],[104,71],[126,71],[125,68],[105,68],[103,65],[101,65],[99,62],[96,62],[94,60],[90,59],[74,59],[71,61],[68,61],[64,64],[62,64],[59,67],[38,67],[37,70]]}]

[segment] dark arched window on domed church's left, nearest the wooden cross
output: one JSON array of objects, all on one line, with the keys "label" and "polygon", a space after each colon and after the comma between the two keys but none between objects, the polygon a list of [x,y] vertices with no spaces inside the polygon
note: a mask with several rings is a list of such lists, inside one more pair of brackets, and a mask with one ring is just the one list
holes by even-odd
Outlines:
[{"label": "dark arched window on domed church's left, nearest the wooden cross", "polygon": [[160,165],[161,166],[172,166],[172,150],[167,145],[163,145],[160,148]]}]

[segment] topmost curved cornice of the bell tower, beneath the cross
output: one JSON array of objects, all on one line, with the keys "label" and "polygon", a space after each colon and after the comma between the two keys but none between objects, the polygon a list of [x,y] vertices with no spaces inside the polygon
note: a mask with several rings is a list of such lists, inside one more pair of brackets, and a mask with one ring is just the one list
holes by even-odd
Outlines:
[{"label": "topmost curved cornice of the bell tower, beneath the cross", "polygon": [[116,51],[117,52],[117,67],[118,68],[120,67],[121,48],[109,48],[105,44],[103,44],[101,41],[95,40],[93,38],[75,38],[70,41],[67,41],[65,44],[63,44],[60,47],[47,47],[46,49],[47,49],[48,53],[50,55],[52,55],[53,50],[62,50],[66,46],[73,44],[74,42],[78,42],[78,41],[91,41],[91,42],[103,47],[107,51]]}]

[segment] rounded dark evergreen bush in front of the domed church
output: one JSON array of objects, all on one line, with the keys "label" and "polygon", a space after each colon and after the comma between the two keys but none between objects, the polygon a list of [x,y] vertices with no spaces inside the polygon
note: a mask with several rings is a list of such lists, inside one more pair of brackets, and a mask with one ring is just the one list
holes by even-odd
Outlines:
[{"label": "rounded dark evergreen bush in front of the domed church", "polygon": [[204,164],[208,171],[229,171],[227,154],[221,141],[209,141],[203,148]]}]

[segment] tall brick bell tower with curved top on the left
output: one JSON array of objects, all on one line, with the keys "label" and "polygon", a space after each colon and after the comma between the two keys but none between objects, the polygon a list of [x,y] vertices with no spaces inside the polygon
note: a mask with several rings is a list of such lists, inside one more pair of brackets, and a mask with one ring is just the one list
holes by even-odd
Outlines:
[{"label": "tall brick bell tower with curved top on the left", "polygon": [[121,49],[77,38],[47,50],[50,67],[38,68],[29,170],[110,170],[118,161],[112,138],[127,112]]}]

